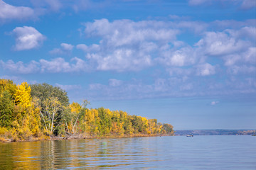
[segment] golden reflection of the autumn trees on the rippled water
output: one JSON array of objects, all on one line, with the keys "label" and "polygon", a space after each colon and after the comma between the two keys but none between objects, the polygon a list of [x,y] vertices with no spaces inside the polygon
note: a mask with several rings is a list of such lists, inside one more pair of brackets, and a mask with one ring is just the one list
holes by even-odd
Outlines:
[{"label": "golden reflection of the autumn trees on the rippled water", "polygon": [[0,169],[122,169],[150,150],[144,137],[14,142],[0,144]]}]

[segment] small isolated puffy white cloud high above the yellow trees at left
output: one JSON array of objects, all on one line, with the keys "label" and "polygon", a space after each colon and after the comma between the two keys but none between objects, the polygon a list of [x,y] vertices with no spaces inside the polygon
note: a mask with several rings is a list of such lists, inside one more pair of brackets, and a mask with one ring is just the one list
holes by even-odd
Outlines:
[{"label": "small isolated puffy white cloud high above the yellow trees at left", "polygon": [[16,27],[12,33],[16,36],[15,50],[31,50],[39,47],[46,37],[33,27]]}]

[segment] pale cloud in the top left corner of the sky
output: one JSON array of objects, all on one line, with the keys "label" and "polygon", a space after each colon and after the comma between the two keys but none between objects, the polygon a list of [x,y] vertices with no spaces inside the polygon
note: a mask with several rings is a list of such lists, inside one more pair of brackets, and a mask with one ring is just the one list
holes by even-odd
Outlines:
[{"label": "pale cloud in the top left corner of the sky", "polygon": [[35,18],[36,13],[32,8],[25,6],[11,6],[0,0],[0,21],[8,19]]}]

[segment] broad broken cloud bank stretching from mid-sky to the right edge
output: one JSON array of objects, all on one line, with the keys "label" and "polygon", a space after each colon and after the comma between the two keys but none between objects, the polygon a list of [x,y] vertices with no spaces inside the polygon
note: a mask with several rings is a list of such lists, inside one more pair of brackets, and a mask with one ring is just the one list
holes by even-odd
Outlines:
[{"label": "broad broken cloud bank stretching from mid-sky to the right edge", "polygon": [[[225,26],[224,26],[224,25]],[[228,25],[227,25],[228,24]],[[255,21],[214,21],[210,24],[193,21],[130,21],[107,19],[84,23],[89,38],[99,38],[98,44],[76,45],[98,70],[117,72],[139,71],[154,65],[164,65],[170,74],[208,76],[216,73],[208,57],[220,57],[226,66],[244,60],[254,60]],[[207,31],[210,26],[220,31]],[[222,30],[223,28],[229,28]],[[177,40],[177,35],[203,35],[194,46]],[[231,29],[233,28],[233,29]],[[200,64],[201,63],[201,64]],[[184,69],[178,67],[188,67]]]}]

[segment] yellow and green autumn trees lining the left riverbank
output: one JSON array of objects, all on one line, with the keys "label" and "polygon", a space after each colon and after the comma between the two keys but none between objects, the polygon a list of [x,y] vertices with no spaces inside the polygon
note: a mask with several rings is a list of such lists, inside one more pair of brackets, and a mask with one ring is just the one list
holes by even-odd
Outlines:
[{"label": "yellow and green autumn trees lining the left riverbank", "polygon": [[89,101],[69,103],[67,93],[49,84],[14,84],[0,79],[0,140],[43,140],[54,136],[89,137],[174,135],[173,126],[106,108]]}]

